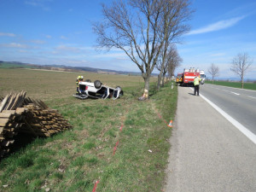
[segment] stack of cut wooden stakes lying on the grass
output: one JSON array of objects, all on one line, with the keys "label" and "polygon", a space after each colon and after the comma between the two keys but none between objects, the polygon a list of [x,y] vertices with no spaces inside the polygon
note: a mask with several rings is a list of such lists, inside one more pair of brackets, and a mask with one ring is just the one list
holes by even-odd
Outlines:
[{"label": "stack of cut wooden stakes lying on the grass", "polygon": [[26,97],[26,92],[0,97],[0,158],[9,152],[19,132],[33,137],[51,135],[72,128],[57,110],[48,108],[40,100]]}]

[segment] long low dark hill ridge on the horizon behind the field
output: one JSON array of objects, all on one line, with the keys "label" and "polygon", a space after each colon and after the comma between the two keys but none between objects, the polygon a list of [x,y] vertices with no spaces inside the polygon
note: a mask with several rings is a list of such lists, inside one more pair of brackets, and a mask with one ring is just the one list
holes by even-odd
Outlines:
[{"label": "long low dark hill ridge on the horizon behind the field", "polygon": [[[71,66],[63,66],[63,65],[36,65],[36,64],[23,63],[19,61],[0,61],[0,68],[35,68],[35,69],[48,69],[48,70],[57,70],[57,71],[68,71],[68,72],[84,71],[84,72],[92,72],[92,73],[141,75],[141,73],[115,71],[111,69],[101,69],[101,68],[92,68],[92,67],[71,67]],[[157,74],[153,74],[153,75],[157,75]]]}]

